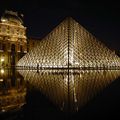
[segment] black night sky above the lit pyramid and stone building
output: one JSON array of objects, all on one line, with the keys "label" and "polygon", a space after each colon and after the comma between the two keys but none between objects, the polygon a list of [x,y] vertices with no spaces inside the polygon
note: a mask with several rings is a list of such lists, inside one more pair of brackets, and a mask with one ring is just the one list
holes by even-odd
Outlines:
[{"label": "black night sky above the lit pyramid and stone building", "polygon": [[24,14],[28,37],[43,38],[66,16],[72,16],[107,46],[120,50],[120,7],[115,1],[0,0],[0,16],[6,9]]}]

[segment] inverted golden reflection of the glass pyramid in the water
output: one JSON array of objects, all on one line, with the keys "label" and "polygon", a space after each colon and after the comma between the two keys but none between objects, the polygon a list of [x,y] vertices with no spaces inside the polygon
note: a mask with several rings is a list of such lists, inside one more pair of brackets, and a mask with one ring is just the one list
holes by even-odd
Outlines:
[{"label": "inverted golden reflection of the glass pyramid in the water", "polygon": [[62,111],[75,112],[120,76],[119,70],[19,70]]}]

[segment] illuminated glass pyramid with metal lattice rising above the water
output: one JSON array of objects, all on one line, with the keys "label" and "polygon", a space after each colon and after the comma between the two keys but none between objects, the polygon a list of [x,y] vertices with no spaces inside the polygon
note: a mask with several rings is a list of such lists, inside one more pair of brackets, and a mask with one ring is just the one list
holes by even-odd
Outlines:
[{"label": "illuminated glass pyramid with metal lattice rising above the water", "polygon": [[17,63],[43,68],[118,68],[120,58],[72,18],[66,18]]}]

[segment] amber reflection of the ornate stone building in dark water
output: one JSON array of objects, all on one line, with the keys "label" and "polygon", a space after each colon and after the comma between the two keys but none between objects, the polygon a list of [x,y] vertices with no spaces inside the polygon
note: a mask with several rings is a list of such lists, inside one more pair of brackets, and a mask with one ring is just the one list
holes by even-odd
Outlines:
[{"label": "amber reflection of the ornate stone building in dark water", "polygon": [[26,87],[15,69],[0,69],[0,113],[19,110],[25,104]]}]

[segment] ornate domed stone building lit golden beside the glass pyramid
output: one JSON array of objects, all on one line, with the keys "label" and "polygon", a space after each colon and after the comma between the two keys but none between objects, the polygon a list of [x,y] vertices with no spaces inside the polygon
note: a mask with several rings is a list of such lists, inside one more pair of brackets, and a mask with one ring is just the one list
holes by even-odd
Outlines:
[{"label": "ornate domed stone building lit golden beside the glass pyramid", "polygon": [[5,11],[0,21],[0,67],[14,66],[27,53],[26,27],[22,16]]}]

